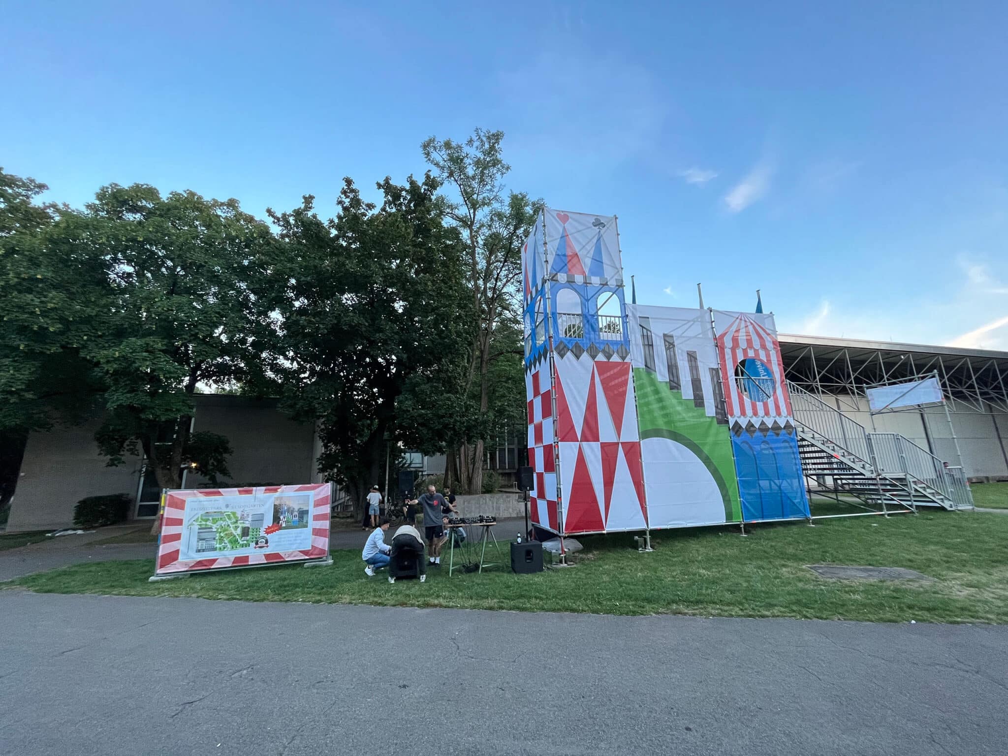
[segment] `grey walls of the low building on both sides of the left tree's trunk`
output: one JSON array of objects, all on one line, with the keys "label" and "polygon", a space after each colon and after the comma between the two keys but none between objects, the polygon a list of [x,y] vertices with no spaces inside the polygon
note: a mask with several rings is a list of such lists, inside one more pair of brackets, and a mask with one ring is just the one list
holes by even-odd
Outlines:
[{"label": "grey walls of the low building on both sides of the left tree's trunk", "polygon": [[[75,504],[86,496],[124,493],[135,500],[141,461],[131,458],[121,467],[106,467],[94,438],[99,423],[96,419],[57,426],[28,436],[8,532],[69,527]],[[320,479],[314,464],[314,428],[287,418],[275,400],[197,395],[195,429],[221,433],[231,443],[231,475],[222,486],[313,483]],[[185,485],[211,487],[199,475],[187,476]]]}]

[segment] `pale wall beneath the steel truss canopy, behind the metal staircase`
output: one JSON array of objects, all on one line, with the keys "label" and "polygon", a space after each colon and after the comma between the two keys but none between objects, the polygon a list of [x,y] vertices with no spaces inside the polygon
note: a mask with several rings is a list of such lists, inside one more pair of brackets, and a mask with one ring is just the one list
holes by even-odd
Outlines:
[{"label": "pale wall beneath the steel truss canopy, behind the metal staircase", "polygon": [[[820,398],[831,406],[838,407],[868,430],[872,429],[872,415],[868,411],[866,397],[824,394]],[[984,412],[978,412],[962,402],[954,402],[950,409],[954,410],[951,411],[952,425],[963,455],[963,468],[967,477],[1008,478],[1008,457],[1005,454],[1005,449],[1008,448],[1008,415],[994,412],[987,404]],[[951,465],[957,464],[956,442],[953,440],[949,421],[940,406],[877,414],[874,420],[876,430],[901,433],[935,457]]]}]

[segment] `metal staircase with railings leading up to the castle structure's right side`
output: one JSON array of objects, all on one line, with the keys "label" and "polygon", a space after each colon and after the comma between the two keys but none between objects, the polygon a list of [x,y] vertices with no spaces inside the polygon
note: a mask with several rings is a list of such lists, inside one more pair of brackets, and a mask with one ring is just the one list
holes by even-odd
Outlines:
[{"label": "metal staircase with railings leading up to the castle structure's right side", "polygon": [[972,509],[960,467],[949,467],[899,433],[872,433],[814,394],[787,384],[805,477],[882,512],[917,507]]}]

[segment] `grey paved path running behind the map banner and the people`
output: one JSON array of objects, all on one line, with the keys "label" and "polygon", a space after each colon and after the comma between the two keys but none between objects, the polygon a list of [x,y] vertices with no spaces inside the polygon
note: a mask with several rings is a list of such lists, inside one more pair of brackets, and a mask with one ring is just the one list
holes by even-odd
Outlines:
[{"label": "grey paved path running behind the map banner and the people", "polygon": [[[149,525],[147,526],[149,527]],[[510,540],[524,529],[519,519],[501,520],[494,534],[501,540]],[[108,561],[111,559],[150,559],[153,570],[156,545],[154,543],[109,543],[95,545],[95,541],[117,535],[129,527],[102,528],[96,533],[61,535],[45,538],[38,543],[0,551],[0,581],[9,581],[32,573],[77,564],[83,561]],[[334,529],[330,545],[333,548],[363,548],[368,533],[360,528]],[[391,533],[386,535],[391,541]]]}]

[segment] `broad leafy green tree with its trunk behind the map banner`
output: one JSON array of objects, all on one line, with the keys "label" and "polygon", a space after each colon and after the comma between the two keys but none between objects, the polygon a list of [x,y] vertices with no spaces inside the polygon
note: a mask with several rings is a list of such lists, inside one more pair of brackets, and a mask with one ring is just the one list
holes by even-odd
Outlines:
[{"label": "broad leafy green tree with its trunk behind the map banner", "polygon": [[101,261],[108,275],[110,306],[82,355],[105,385],[96,437],[110,464],[140,448],[158,485],[178,488],[197,387],[241,380],[258,362],[265,316],[247,282],[271,243],[235,200],[162,198],[145,184],[106,186],[49,228],[51,250]]}]

